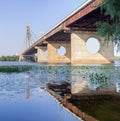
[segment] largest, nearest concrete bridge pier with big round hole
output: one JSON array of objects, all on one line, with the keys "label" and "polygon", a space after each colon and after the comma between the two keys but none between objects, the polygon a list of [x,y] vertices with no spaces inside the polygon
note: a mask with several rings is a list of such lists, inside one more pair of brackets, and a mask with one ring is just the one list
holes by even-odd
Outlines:
[{"label": "largest, nearest concrete bridge pier with big round hole", "polygon": [[[88,38],[94,37],[99,40],[100,49],[92,54],[87,50],[86,42]],[[93,44],[93,48],[95,45]],[[71,63],[83,64],[107,64],[114,61],[114,45],[104,44],[103,38],[100,38],[94,32],[73,32],[71,33]]]}]

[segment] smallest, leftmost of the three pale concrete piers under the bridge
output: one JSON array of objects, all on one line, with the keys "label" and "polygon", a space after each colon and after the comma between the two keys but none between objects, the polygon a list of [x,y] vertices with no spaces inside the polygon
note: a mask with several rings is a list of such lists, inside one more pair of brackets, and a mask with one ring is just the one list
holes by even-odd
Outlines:
[{"label": "smallest, leftmost of the three pale concrete piers under the bridge", "polygon": [[47,62],[47,57],[45,55],[45,51],[47,49],[47,47],[42,47],[42,46],[37,46],[35,47],[35,49],[37,49],[37,62],[38,63],[43,63],[43,62]]}]

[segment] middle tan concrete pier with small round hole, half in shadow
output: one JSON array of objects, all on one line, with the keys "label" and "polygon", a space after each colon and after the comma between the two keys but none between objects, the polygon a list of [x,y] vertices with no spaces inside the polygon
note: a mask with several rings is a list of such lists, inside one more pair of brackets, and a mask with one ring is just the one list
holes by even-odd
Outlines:
[{"label": "middle tan concrete pier with small round hole, half in shadow", "polygon": [[[66,49],[64,55],[59,55],[58,50],[61,46]],[[70,41],[49,41],[48,46],[48,63],[70,63],[71,44]]]}]

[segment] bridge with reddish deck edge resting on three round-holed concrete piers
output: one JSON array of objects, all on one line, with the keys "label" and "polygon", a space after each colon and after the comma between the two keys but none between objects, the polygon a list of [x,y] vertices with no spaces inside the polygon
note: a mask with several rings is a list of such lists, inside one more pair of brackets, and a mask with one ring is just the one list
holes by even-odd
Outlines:
[{"label": "bridge with reddish deck edge resting on three round-holed concrete piers", "polygon": [[[114,46],[103,44],[103,39],[96,35],[96,22],[109,21],[109,16],[101,13],[102,0],[88,0],[76,11],[67,16],[53,29],[28,47],[21,55],[37,53],[38,62],[48,63],[110,63],[114,60]],[[88,38],[94,37],[101,45],[96,53],[86,48]],[[59,55],[57,49],[65,47],[66,53]],[[94,48],[95,45],[92,45]],[[45,56],[47,51],[48,55]]]}]

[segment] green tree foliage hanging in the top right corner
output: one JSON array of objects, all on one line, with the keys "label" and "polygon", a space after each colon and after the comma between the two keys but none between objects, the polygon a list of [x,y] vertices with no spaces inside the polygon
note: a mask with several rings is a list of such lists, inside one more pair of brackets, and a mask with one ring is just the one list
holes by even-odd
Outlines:
[{"label": "green tree foliage hanging in the top right corner", "polygon": [[120,0],[102,0],[101,10],[113,21],[97,23],[97,33],[108,43],[112,41],[120,51]]}]

